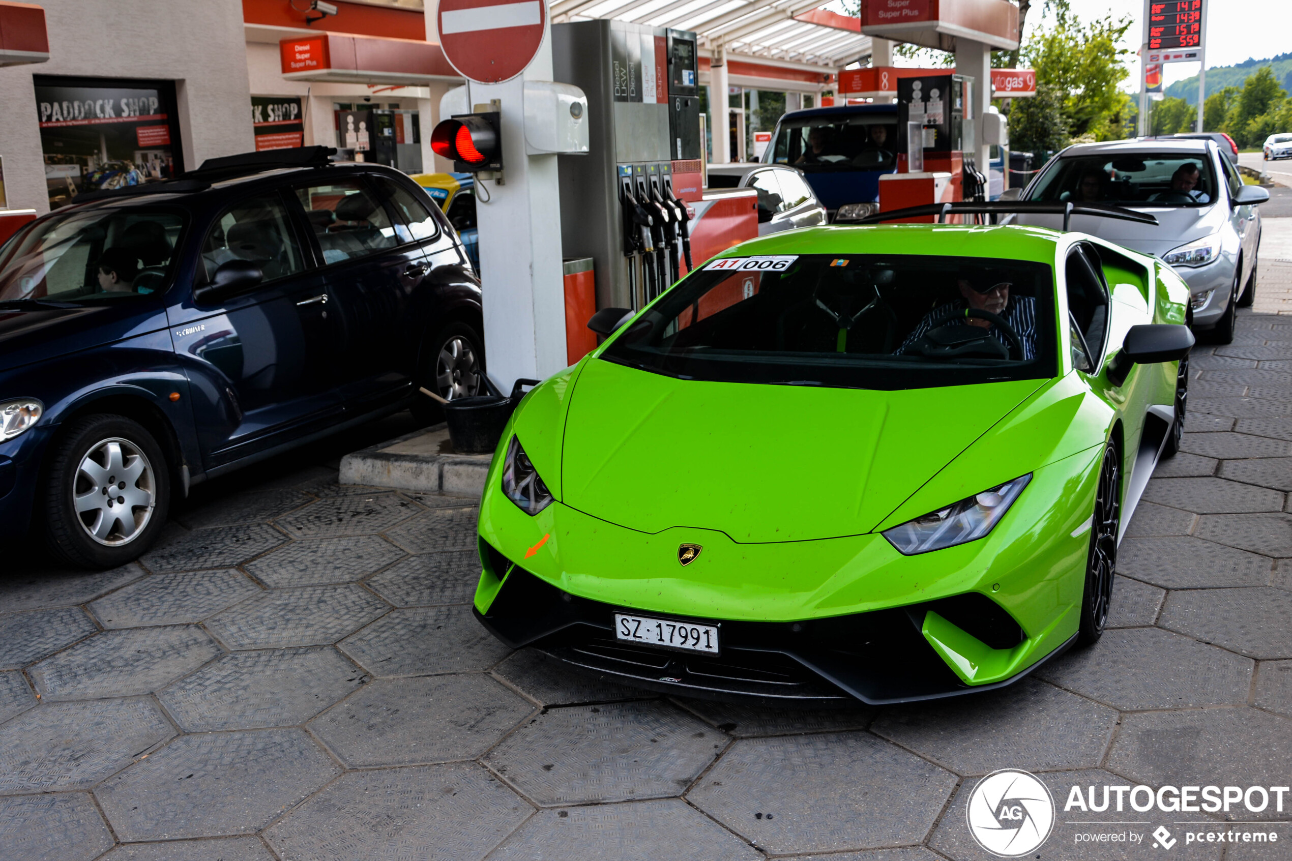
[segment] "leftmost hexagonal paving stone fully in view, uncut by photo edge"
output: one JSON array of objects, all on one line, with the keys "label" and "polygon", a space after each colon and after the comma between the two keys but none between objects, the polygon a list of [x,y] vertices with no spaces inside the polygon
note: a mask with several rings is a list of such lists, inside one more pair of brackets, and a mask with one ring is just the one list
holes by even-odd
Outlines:
[{"label": "leftmost hexagonal paving stone fully in view, uncut by photo edge", "polygon": [[124,697],[160,691],[220,654],[195,625],[103,631],[28,670],[45,700]]}]

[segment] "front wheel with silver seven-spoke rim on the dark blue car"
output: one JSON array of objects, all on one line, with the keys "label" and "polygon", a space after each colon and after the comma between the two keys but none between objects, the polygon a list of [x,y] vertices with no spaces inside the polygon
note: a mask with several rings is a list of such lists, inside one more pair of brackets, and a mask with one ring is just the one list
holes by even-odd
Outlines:
[{"label": "front wheel with silver seven-spoke rim on the dark blue car", "polygon": [[116,568],[152,546],[171,509],[171,465],[124,416],[68,422],[49,460],[40,514],[50,551],[81,568]]}]

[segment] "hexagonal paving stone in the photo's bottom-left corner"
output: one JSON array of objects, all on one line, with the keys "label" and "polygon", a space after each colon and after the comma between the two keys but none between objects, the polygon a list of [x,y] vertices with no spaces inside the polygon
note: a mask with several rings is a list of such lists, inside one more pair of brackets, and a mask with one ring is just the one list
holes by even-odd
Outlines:
[{"label": "hexagonal paving stone in the photo's bottom-left corner", "polygon": [[112,835],[84,793],[0,798],[0,858],[90,861]]}]

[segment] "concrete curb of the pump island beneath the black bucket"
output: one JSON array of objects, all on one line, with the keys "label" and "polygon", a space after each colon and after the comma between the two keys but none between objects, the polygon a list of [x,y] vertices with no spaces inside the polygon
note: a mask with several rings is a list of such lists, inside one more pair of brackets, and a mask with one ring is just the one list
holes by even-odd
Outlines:
[{"label": "concrete curb of the pump island beneath the black bucket", "polygon": [[441,452],[447,440],[447,425],[435,425],[351,452],[340,483],[481,498],[492,456]]}]

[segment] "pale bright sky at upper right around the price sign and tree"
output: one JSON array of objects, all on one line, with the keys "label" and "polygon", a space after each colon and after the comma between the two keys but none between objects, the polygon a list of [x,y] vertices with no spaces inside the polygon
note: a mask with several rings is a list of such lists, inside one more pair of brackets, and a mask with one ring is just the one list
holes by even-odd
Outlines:
[{"label": "pale bright sky at upper right around the price sign and tree", "polygon": [[[1072,13],[1083,19],[1130,15],[1137,23],[1127,32],[1125,48],[1138,50],[1143,39],[1143,0],[1070,0]],[[1027,28],[1036,21],[1037,0],[1027,13]],[[1053,14],[1047,15],[1053,22]],[[1292,52],[1292,0],[1213,0],[1207,13],[1207,66],[1233,66],[1248,57],[1264,59]],[[1198,63],[1168,63],[1165,83],[1193,77]],[[1132,75],[1134,77],[1134,75]],[[1138,90],[1138,81],[1125,89]]]}]

